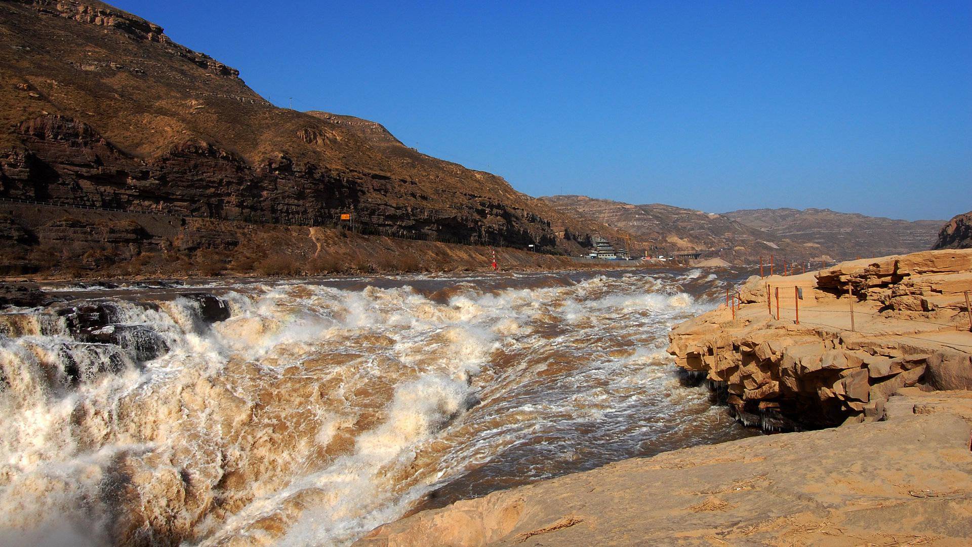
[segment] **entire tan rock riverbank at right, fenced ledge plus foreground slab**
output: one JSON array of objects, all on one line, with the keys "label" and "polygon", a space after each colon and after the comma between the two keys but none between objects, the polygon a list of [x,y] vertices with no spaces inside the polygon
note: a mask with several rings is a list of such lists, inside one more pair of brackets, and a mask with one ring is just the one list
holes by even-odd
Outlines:
[{"label": "entire tan rock riverbank at right, fenced ledge plus foreground slab", "polygon": [[731,306],[673,328],[678,367],[746,423],[843,426],[627,459],[418,513],[358,544],[967,545],[970,281],[972,251],[750,278]]}]

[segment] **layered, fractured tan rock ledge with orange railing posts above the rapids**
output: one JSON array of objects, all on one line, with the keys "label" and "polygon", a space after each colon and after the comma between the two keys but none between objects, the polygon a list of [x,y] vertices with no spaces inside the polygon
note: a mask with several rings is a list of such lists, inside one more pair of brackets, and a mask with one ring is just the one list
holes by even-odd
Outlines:
[{"label": "layered, fractured tan rock ledge with orange railing posts above the rapids", "polygon": [[721,306],[674,327],[669,352],[748,424],[884,419],[900,388],[972,389],[964,291],[972,291],[972,250],[752,277],[736,310]]}]

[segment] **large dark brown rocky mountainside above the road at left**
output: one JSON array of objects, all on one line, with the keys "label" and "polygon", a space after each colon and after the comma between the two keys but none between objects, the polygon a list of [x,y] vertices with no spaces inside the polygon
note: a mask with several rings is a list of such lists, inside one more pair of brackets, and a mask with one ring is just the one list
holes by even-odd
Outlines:
[{"label": "large dark brown rocky mountainside above the road at left", "polygon": [[[613,233],[379,124],[277,108],[97,1],[0,0],[0,51],[0,198],[73,207],[75,224],[78,207],[295,226],[349,215],[364,234],[573,254]],[[0,226],[6,244],[37,243],[21,220]]]}]

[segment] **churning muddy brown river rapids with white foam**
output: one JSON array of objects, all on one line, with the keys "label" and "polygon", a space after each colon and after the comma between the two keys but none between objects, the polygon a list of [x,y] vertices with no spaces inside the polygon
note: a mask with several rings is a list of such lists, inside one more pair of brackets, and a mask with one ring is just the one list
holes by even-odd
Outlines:
[{"label": "churning muddy brown river rapids with white foam", "polygon": [[733,280],[61,288],[0,313],[0,543],[344,545],[410,511],[750,435],[664,352]]}]

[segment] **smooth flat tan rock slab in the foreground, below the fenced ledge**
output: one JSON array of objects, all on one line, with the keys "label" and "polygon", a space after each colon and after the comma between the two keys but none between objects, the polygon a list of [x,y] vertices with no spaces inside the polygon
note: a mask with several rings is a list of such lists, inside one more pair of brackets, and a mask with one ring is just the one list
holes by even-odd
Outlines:
[{"label": "smooth flat tan rock slab in the foreground, below the fenced ledge", "polygon": [[919,405],[884,423],[695,447],[493,492],[356,545],[967,544],[969,422]]}]

